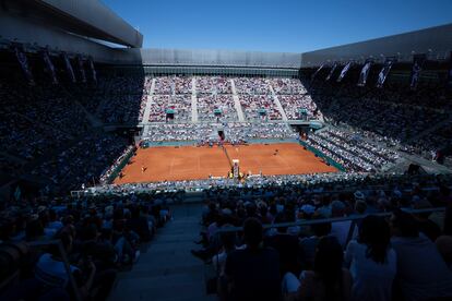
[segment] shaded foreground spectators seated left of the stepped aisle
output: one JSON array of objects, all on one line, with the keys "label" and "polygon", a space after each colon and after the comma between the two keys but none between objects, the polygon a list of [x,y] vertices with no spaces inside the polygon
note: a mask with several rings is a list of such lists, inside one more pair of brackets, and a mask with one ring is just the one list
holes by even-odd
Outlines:
[{"label": "shaded foreground spectators seated left of the stepped aisle", "polygon": [[[23,198],[2,204],[0,248],[27,248],[23,241],[43,246],[27,248],[22,257],[11,253],[21,277],[1,291],[0,299],[76,300],[78,291],[80,300],[107,300],[118,272],[136,263],[144,243],[171,218],[166,203],[177,197],[180,194]],[[67,256],[58,245],[48,244],[52,240],[61,242]],[[4,262],[8,251],[1,254],[1,276],[9,277],[4,273],[13,273],[7,270],[13,265]],[[66,257],[78,290],[64,269]]]}]

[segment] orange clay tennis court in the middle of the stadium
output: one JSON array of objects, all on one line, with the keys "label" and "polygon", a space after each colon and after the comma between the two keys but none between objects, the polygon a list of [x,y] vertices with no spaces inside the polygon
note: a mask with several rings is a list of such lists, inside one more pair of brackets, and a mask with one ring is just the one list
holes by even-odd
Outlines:
[{"label": "orange clay tennis court in the middle of the stadium", "polygon": [[[243,173],[251,171],[257,174],[262,171],[264,176],[273,176],[337,171],[297,143],[226,145],[225,148],[231,160],[240,160],[240,171]],[[274,155],[276,149],[278,152]],[[122,169],[123,177],[118,177],[115,183],[207,179],[210,174],[226,177],[229,170],[228,158],[218,146],[139,148]]]}]

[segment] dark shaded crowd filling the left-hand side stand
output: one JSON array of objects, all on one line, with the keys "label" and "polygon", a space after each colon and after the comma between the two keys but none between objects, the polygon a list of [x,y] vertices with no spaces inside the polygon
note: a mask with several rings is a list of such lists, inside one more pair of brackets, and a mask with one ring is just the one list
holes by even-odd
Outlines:
[{"label": "dark shaded crowd filling the left-hand side stand", "polygon": [[[92,128],[87,113],[94,112],[86,111],[90,107],[85,107],[84,101],[88,98],[82,97],[86,94],[74,94],[78,89],[71,83],[50,85],[44,76],[29,86],[16,69],[2,74],[2,177],[29,177],[39,183],[44,194],[66,194],[82,185],[97,183],[102,172],[127,147],[127,142],[116,134]],[[127,82],[129,88],[109,92],[109,95],[121,96],[133,93],[136,87],[142,89],[135,80],[100,77],[95,93],[92,86],[86,85],[86,89],[97,97],[104,89],[109,89],[108,85]],[[79,87],[79,91],[82,89]],[[138,111],[134,115],[138,116]]]}]

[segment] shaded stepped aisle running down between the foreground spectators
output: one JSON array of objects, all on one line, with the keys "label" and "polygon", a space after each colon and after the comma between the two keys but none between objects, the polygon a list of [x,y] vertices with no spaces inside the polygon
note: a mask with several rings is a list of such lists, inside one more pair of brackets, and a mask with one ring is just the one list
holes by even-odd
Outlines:
[{"label": "shaded stepped aisle running down between the foreground spectators", "polygon": [[110,300],[216,300],[205,294],[204,268],[190,254],[201,226],[201,205],[173,208],[174,220],[158,229],[145,253],[130,272],[121,273]]}]

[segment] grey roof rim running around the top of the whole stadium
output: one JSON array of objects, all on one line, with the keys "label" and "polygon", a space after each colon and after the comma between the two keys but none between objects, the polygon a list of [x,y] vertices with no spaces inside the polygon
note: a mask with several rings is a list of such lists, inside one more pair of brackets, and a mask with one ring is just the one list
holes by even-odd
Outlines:
[{"label": "grey roof rim running around the top of the whole stadium", "polygon": [[[126,47],[110,47],[103,41]],[[4,43],[3,43],[4,41]],[[299,69],[333,61],[364,62],[415,53],[449,58],[452,24],[305,53],[195,49],[142,49],[143,36],[98,0],[1,0],[0,46],[15,41],[55,51],[92,56],[97,62],[129,65],[243,67]]]}]

